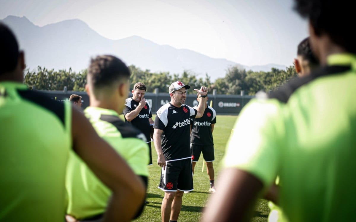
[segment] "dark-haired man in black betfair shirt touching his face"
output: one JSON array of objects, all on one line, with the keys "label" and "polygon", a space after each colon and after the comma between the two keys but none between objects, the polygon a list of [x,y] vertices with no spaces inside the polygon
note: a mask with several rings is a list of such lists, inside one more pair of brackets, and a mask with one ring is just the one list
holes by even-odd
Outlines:
[{"label": "dark-haired man in black betfair shirt touching his face", "polygon": [[146,136],[147,145],[150,150],[150,162],[152,164],[151,149],[151,126],[155,123],[152,120],[150,104],[145,99],[146,86],[142,82],[137,82],[133,86],[132,97],[127,98],[124,108],[124,117],[127,123],[131,123]]}]

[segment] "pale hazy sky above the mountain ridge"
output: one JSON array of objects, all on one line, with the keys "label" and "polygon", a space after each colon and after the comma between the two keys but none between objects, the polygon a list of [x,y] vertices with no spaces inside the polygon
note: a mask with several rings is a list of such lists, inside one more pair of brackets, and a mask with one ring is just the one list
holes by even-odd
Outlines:
[{"label": "pale hazy sky above the mountain ridge", "polygon": [[0,0],[0,19],[38,26],[79,18],[102,36],[133,35],[242,65],[292,65],[307,21],[293,0]]}]

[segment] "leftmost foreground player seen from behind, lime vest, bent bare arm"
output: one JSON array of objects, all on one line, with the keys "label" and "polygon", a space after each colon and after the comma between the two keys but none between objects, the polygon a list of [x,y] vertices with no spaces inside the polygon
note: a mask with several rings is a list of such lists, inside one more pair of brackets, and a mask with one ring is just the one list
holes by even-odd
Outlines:
[{"label": "leftmost foreground player seen from behind, lime vest, bent bare arm", "polygon": [[104,221],[130,220],[145,196],[140,178],[69,102],[22,84],[24,54],[1,22],[0,55],[0,221],[63,221],[71,149],[112,190]]}]

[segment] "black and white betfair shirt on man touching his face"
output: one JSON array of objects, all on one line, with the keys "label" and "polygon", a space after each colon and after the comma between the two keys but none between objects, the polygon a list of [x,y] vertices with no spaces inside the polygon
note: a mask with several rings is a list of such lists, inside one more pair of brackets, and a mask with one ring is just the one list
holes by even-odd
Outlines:
[{"label": "black and white betfair shirt on man touching his face", "polygon": [[[127,113],[130,113],[132,110],[136,109],[136,107],[138,106],[138,102],[136,102],[134,99],[127,98],[126,102],[125,102],[125,108],[124,108],[124,117]],[[150,120],[148,120],[149,118],[152,118],[152,113],[151,113],[151,107],[150,105],[147,103],[140,111],[140,113],[137,115],[137,117],[133,120],[131,120],[131,122],[126,120],[125,117],[125,122],[126,123],[131,123],[133,126],[135,126],[138,130],[140,130],[141,132],[143,132],[143,134],[145,134],[146,136],[146,140],[147,142],[151,142],[151,136],[150,136]]]}]

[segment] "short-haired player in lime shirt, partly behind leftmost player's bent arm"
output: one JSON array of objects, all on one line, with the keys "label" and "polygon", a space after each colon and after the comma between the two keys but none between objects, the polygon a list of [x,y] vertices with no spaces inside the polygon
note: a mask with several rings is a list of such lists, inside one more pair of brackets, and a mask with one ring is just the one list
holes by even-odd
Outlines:
[{"label": "short-haired player in lime shirt, partly behind leftmost player's bent arm", "polygon": [[[96,132],[126,160],[147,187],[148,147],[146,138],[119,117],[129,90],[130,71],[118,58],[97,56],[91,60],[85,90],[90,106],[84,114]],[[66,188],[67,213],[79,220],[100,218],[105,212],[111,192],[74,153],[69,157]],[[131,200],[128,199],[127,205]],[[141,205],[143,209],[143,201]],[[136,213],[138,216],[141,213]]]}]

